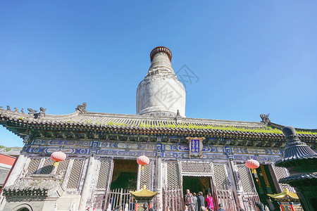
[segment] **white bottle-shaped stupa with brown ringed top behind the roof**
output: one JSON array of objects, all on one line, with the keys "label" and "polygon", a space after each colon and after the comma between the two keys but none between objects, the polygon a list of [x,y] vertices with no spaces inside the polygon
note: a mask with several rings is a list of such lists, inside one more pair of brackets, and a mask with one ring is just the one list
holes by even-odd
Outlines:
[{"label": "white bottle-shaped stupa with brown ringed top behind the roof", "polygon": [[147,77],[137,87],[137,115],[185,117],[186,92],[170,61],[170,49],[159,46],[150,53]]}]

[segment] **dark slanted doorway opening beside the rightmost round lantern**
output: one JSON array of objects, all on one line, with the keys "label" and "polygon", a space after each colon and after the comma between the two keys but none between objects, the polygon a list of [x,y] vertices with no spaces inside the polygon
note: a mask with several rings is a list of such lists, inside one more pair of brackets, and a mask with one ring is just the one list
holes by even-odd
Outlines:
[{"label": "dark slanted doorway opening beside the rightmost round lantern", "polygon": [[267,194],[278,193],[275,188],[268,165],[260,165],[256,172],[252,172],[252,178],[256,186],[256,192],[259,194],[261,203],[267,205],[270,210],[279,210],[280,207],[276,201],[270,200]]}]

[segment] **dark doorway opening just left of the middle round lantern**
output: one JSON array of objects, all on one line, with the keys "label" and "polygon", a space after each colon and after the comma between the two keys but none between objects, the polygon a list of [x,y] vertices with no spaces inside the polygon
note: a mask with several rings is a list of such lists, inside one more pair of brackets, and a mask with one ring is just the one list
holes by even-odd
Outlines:
[{"label": "dark doorway opening just left of the middle round lantern", "polygon": [[111,190],[137,189],[137,162],[135,160],[114,160],[113,174],[111,180]]}]

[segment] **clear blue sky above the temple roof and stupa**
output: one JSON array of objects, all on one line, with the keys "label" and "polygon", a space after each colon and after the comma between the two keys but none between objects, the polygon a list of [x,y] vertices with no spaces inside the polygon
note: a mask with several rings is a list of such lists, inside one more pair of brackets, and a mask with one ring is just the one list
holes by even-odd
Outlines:
[{"label": "clear blue sky above the temple roof and stupa", "polygon": [[[0,106],[135,114],[167,46],[186,115],[317,128],[317,1],[1,1]],[[22,140],[0,127],[0,145]]]}]

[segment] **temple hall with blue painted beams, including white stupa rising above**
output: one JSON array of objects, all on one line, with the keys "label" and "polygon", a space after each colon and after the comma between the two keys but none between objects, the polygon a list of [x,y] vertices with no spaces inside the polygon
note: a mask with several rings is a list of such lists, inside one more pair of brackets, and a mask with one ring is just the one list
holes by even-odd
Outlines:
[{"label": "temple hall with blue painted beams, including white stupa rising above", "polygon": [[[171,51],[159,46],[150,58],[137,87],[136,115],[90,112],[89,103],[63,115],[46,114],[46,108],[38,113],[0,108],[0,124],[24,143],[1,190],[0,210],[113,210],[116,205],[134,210],[130,191],[144,185],[149,193],[158,192],[151,207],[159,211],[183,210],[187,188],[212,193],[214,204],[223,203],[226,211],[256,210],[256,201],[280,209],[267,194],[294,192],[278,183],[290,176],[287,169],[274,165],[284,152],[283,126],[268,115],[259,122],[186,117],[186,92],[171,65]],[[316,151],[317,129],[297,129],[297,134]],[[66,159],[55,165],[51,154],[58,151]],[[144,167],[137,164],[141,155],[149,158]],[[259,168],[247,168],[249,159]]]}]

